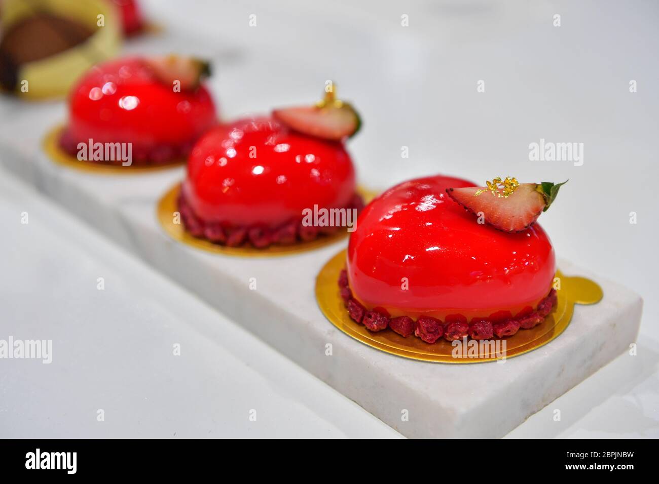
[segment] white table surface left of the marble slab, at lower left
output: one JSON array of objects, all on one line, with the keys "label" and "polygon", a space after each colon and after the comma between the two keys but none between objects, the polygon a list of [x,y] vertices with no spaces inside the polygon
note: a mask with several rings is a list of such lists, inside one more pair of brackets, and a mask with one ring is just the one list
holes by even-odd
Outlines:
[{"label": "white table surface left of the marble slab, at lower left", "polygon": [[0,360],[0,437],[399,435],[5,171],[0,200],[0,338],[53,340]]}]

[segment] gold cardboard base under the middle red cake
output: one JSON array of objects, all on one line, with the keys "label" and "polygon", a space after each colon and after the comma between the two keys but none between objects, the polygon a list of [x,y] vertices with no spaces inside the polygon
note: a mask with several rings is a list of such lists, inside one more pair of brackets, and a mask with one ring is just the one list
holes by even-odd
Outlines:
[{"label": "gold cardboard base under the middle red cake", "polygon": [[[175,223],[175,214],[179,210],[176,200],[179,196],[181,185],[171,188],[158,202],[158,221],[165,229],[165,232],[174,240],[183,242],[188,246],[192,246],[206,252],[214,252],[215,254],[224,255],[238,255],[240,257],[277,257],[281,255],[293,255],[308,250],[318,249],[329,244],[333,244],[347,236],[347,230],[339,230],[335,234],[321,236],[309,242],[297,242],[289,246],[272,245],[265,249],[257,249],[252,246],[246,245],[241,247],[228,247],[220,244],[214,244],[209,240],[196,238],[190,235],[183,227],[183,223]],[[364,198],[364,202],[368,203],[373,197],[374,193],[368,190],[358,188],[358,192]]]}]

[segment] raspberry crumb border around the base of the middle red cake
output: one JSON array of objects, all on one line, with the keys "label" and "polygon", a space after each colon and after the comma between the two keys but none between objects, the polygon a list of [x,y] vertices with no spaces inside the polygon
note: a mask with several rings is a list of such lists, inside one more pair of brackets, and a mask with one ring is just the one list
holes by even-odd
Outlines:
[{"label": "raspberry crumb border around the base of the middle red cake", "polygon": [[[177,200],[179,213],[185,230],[196,238],[202,238],[228,247],[239,247],[244,244],[251,244],[257,249],[265,249],[273,244],[287,246],[297,242],[310,242],[320,236],[331,235],[338,230],[345,230],[345,227],[313,227],[302,225],[302,215],[299,219],[291,220],[276,229],[256,225],[251,227],[231,227],[227,228],[221,222],[206,222],[197,217],[192,211],[192,207],[179,192]],[[345,209],[357,209],[359,213],[364,208],[364,200],[359,194],[353,195]]]}]

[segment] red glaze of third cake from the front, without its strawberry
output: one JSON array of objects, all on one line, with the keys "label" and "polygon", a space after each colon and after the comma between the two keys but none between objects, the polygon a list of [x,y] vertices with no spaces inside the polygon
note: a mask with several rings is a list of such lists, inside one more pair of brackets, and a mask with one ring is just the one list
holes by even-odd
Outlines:
[{"label": "red glaze of third cake from the front, without its strawberry", "polygon": [[[92,68],[69,99],[71,142],[131,142],[133,153],[189,144],[217,124],[206,88],[175,92],[141,59],[119,59]],[[189,148],[189,147],[188,147]]]}]

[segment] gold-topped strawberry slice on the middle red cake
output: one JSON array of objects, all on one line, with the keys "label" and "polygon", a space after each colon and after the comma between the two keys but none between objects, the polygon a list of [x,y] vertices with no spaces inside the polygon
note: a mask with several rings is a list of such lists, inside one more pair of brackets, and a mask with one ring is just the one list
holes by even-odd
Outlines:
[{"label": "gold-topped strawberry slice on the middle red cake", "polygon": [[289,128],[316,138],[338,141],[353,136],[361,126],[359,115],[351,105],[335,99],[334,90],[335,86],[314,106],[275,109],[272,115]]}]

